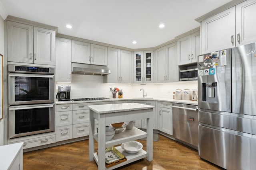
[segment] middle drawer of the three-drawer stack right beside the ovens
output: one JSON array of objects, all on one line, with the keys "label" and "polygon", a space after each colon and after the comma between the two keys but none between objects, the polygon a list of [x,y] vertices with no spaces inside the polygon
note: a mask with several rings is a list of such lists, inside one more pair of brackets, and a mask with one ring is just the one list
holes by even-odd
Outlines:
[{"label": "middle drawer of the three-drawer stack right beside the ovens", "polygon": [[72,111],[56,112],[56,127],[72,125]]}]

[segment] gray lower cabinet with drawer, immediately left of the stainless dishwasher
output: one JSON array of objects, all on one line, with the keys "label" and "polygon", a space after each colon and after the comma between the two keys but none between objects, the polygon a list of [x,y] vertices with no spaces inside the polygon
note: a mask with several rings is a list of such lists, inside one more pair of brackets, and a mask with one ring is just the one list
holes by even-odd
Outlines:
[{"label": "gray lower cabinet with drawer, immediately left of the stainless dishwasher", "polygon": [[172,103],[158,102],[158,129],[172,135]]}]

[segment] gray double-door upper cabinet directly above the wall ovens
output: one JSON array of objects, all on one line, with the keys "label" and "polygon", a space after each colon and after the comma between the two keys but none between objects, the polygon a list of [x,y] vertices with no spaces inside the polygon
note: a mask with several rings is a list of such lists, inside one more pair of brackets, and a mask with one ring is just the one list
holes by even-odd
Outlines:
[{"label": "gray double-door upper cabinet directly above the wall ovens", "polygon": [[7,60],[55,65],[55,31],[7,21]]}]

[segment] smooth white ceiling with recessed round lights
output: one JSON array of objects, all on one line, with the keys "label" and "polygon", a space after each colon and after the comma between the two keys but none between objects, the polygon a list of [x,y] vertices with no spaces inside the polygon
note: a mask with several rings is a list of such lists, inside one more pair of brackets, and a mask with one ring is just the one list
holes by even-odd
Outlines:
[{"label": "smooth white ceiling with recessed round lights", "polygon": [[[7,15],[56,26],[61,34],[138,49],[156,47],[199,27],[194,19],[230,1],[0,0],[0,3]],[[165,27],[160,29],[160,23]],[[66,24],[73,28],[66,28]]]}]

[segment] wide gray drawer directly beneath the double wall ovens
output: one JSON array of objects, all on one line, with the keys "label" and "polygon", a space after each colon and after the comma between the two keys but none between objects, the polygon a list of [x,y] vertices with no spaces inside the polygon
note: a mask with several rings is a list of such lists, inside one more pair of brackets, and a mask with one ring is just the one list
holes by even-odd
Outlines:
[{"label": "wide gray drawer directly beneath the double wall ovens", "polygon": [[28,149],[28,148],[32,148],[32,147],[39,147],[42,145],[48,145],[50,143],[55,143],[56,142],[56,136],[55,135],[51,135],[51,136],[47,136],[47,137],[40,137],[34,140],[30,140],[30,141],[24,141],[23,144],[23,149]]}]

